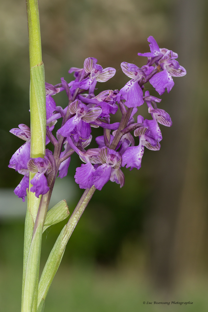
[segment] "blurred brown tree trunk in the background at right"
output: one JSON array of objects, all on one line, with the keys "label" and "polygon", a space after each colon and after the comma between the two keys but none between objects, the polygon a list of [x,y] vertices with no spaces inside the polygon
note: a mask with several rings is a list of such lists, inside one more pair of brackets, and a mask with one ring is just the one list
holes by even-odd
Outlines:
[{"label": "blurred brown tree trunk in the background at right", "polygon": [[[164,133],[161,150],[154,159],[154,203],[147,224],[152,277],[157,287],[166,290],[182,277],[199,272],[202,262],[207,207],[207,165],[203,159],[207,112],[203,110],[203,90],[198,82],[203,77],[204,17],[203,0],[175,2],[174,51],[187,75],[176,77],[169,96],[163,95],[173,126]],[[203,60],[207,62],[205,57]]]}]

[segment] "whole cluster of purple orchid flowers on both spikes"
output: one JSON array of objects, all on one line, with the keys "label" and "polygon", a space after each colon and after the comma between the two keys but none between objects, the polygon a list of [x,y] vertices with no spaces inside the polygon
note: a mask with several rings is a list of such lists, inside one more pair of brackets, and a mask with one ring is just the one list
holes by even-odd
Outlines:
[{"label": "whole cluster of purple orchid flowers on both spikes", "polygon": [[[65,177],[73,153],[83,161],[76,168],[75,182],[80,188],[94,185],[101,190],[109,180],[122,187],[124,174],[121,167],[130,167],[130,170],[141,168],[144,147],[160,149],[162,134],[158,123],[170,127],[172,121],[165,110],[157,108],[161,99],[150,95],[149,91],[143,94],[144,84],[149,81],[159,95],[166,89],[169,93],[174,85],[172,76],[184,76],[186,70],[176,61],[176,53],[159,48],[152,36],[148,37],[148,41],[150,52],[138,53],[148,58],[146,65],[138,68],[131,63],[121,63],[123,73],[131,80],[120,90],[104,90],[95,95],[97,82],[109,80],[116,70],[112,67],[103,69],[93,57],[85,59],[83,68],[72,67],[69,70],[69,73],[74,73],[73,81],[68,83],[61,78],[58,85],[46,83],[46,144],[51,141],[56,148],[54,154],[46,150],[44,158],[30,158],[30,129],[20,124],[18,129],[10,131],[26,141],[9,164],[10,168],[24,175],[14,191],[18,197],[25,200],[29,172],[35,173],[31,180],[31,192],[35,192],[36,197],[46,194],[49,191],[49,175],[56,177],[58,173],[60,178]],[[59,92],[67,94],[65,107],[56,106],[53,99],[53,95]],[[144,103],[147,104],[150,119],[138,115],[138,107]],[[110,123],[110,116],[117,112],[118,106],[122,118],[120,122]],[[62,125],[54,135],[54,126],[60,118]],[[102,127],[104,134],[95,138],[98,148],[86,150],[92,139],[92,127]],[[138,146],[135,146],[133,135],[139,137]]]}]

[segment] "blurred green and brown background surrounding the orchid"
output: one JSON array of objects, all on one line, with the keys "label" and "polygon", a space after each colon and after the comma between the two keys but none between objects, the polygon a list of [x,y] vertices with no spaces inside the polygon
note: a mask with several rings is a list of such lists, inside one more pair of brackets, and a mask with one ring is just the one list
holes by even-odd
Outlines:
[{"label": "blurred green and brown background surrounding the orchid", "polygon": [[[60,83],[60,77],[69,82],[69,68],[82,68],[93,56],[103,68],[117,70],[105,85],[97,84],[97,92],[120,89],[128,81],[120,63],[145,65],[137,52],[149,51],[150,35],[177,52],[187,70],[161,96],[159,107],[173,126],[161,126],[160,151],[146,149],[139,171],[124,168],[123,188],[109,182],[95,192],[67,245],[45,311],[207,311],[208,3],[40,0],[39,9],[48,83]],[[24,1],[0,2],[0,27],[0,310],[10,312],[20,310],[26,211],[13,194],[21,177],[7,167],[22,144],[9,130],[30,119]],[[54,98],[67,105],[66,96]],[[140,114],[146,111],[141,107]],[[80,160],[72,157],[68,176],[56,181],[51,207],[66,199],[73,211],[82,194],[74,182],[77,166]],[[41,270],[64,224],[44,233]],[[174,300],[193,305],[143,304]]]}]

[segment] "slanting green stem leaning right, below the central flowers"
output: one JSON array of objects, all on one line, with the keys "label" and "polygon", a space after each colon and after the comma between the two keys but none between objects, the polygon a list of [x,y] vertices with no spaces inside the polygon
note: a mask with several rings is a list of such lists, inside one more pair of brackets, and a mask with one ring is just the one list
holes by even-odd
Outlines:
[{"label": "slanting green stem leaning right, below the central flowers", "polygon": [[81,215],[85,211],[85,208],[87,207],[95,190],[96,188],[94,187],[94,185],[90,189],[85,190],[68,223],[60,232],[60,235],[57,238],[53,249],[51,250],[38,285],[37,312],[42,312],[44,309],[46,295],[48,293],[51,282],[56,274],[56,271],[58,270],[58,267],[60,265],[66,244],[70,239],[72,232],[74,231],[78,221],[80,220]]}]

